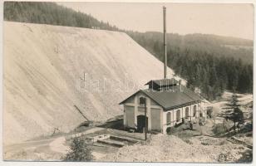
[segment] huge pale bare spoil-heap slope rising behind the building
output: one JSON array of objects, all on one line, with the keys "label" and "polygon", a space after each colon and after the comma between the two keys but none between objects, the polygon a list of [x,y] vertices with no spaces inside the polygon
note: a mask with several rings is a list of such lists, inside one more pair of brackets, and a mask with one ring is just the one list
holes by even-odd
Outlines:
[{"label": "huge pale bare spoil-heap slope rising behind the building", "polygon": [[4,22],[3,49],[6,144],[73,129],[85,120],[73,105],[90,120],[121,115],[118,103],[139,88],[127,81],[163,76],[163,64],[122,32]]}]

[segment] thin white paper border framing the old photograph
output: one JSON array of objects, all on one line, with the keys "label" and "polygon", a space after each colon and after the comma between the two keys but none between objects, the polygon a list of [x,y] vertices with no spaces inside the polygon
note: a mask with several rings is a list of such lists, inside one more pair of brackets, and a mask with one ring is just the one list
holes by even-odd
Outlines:
[{"label": "thin white paper border framing the old photograph", "polygon": [[[22,0],[11,0],[11,1],[22,1]],[[252,3],[254,4],[254,48],[255,48],[255,4],[256,1],[255,0],[23,0],[26,2],[176,2],[176,3]],[[2,76],[2,80],[1,80],[1,96],[0,96],[0,104],[2,106],[3,104],[3,98],[2,98],[2,92],[3,92],[3,42],[2,42],[2,38],[3,38],[3,33],[2,33],[2,23],[3,23],[3,2],[0,2],[0,16],[1,16],[1,23],[0,23],[0,30],[1,30],[1,35],[0,35],[0,52],[1,52],[1,58],[0,58],[0,64],[1,64],[1,69],[0,69],[0,74]],[[255,49],[254,49],[254,54],[255,54]],[[255,58],[254,58],[254,64],[255,63]],[[254,78],[256,76],[255,74],[255,66],[254,66]],[[255,79],[254,79],[254,87],[256,85]],[[254,94],[255,94],[256,90],[254,88]],[[254,102],[255,105],[255,102]],[[3,107],[2,107],[3,108]],[[2,110],[2,109],[1,109]],[[254,113],[255,113],[255,107],[254,107]],[[40,166],[44,166],[44,165],[55,165],[55,166],[69,166],[69,165],[77,165],[77,166],[81,166],[81,165],[86,165],[86,166],[96,166],[96,165],[175,165],[175,166],[185,166],[185,165],[234,165],[234,166],[239,166],[239,165],[244,165],[244,164],[190,164],[190,163],[100,163],[100,162],[11,162],[11,161],[3,161],[2,160],[2,113],[0,114],[0,118],[1,118],[1,123],[0,123],[0,144],[1,144],[1,149],[0,149],[0,165],[8,165],[8,166],[22,166],[22,165],[26,165],[26,166],[34,166],[34,165],[40,165]],[[254,114],[254,124],[255,124],[255,114]],[[255,127],[254,127],[254,133],[255,133]],[[254,136],[254,143],[255,143],[255,136]],[[255,160],[255,148],[253,150],[253,156],[254,156],[254,160]],[[253,165],[255,164],[255,162],[253,161],[252,164],[246,164],[246,165]]]}]

